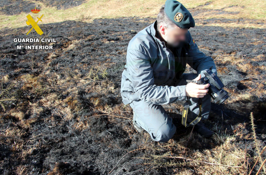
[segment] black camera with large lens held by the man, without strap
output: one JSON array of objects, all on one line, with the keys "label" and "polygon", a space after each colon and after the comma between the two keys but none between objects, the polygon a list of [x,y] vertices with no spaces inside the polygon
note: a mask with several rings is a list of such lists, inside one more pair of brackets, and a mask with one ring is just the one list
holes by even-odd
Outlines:
[{"label": "black camera with large lens held by the man, without strap", "polygon": [[197,84],[209,83],[208,94],[212,97],[213,101],[217,104],[223,103],[229,96],[228,92],[223,89],[224,84],[210,69],[203,72],[205,77],[197,81]]}]

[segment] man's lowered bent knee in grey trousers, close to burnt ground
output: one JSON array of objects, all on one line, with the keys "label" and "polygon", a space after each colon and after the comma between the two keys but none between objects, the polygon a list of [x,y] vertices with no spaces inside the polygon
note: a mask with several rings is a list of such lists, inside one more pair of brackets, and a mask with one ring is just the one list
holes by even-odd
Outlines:
[{"label": "man's lowered bent knee in grey trousers, close to burnt ground", "polygon": [[176,133],[176,126],[171,120],[167,121],[158,129],[156,133],[156,141],[167,143]]}]

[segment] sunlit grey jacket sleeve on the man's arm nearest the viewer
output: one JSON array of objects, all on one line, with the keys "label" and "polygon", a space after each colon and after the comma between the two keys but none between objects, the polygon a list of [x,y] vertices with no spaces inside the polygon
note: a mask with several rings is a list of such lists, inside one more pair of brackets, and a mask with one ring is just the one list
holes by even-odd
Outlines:
[{"label": "sunlit grey jacket sleeve on the man's arm nearest the viewer", "polygon": [[169,104],[175,101],[186,101],[186,85],[157,86],[154,84],[151,58],[146,54],[129,49],[126,64],[130,73],[130,81],[138,98],[150,104]]}]

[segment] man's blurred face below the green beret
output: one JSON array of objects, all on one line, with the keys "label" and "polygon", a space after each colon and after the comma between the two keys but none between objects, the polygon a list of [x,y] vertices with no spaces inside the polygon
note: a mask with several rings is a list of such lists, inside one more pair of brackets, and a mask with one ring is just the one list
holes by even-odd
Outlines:
[{"label": "man's blurred face below the green beret", "polygon": [[164,40],[167,42],[167,46],[177,47],[180,42],[186,40],[187,28],[166,28],[161,26],[161,35]]}]

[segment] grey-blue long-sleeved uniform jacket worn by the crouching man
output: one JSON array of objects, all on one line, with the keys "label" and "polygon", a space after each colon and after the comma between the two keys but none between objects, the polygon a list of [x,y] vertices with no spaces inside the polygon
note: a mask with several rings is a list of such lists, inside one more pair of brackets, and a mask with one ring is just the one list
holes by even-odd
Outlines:
[{"label": "grey-blue long-sleeved uniform jacket worn by the crouching man", "polygon": [[212,66],[217,74],[213,59],[199,51],[187,32],[187,47],[176,47],[178,68],[174,54],[165,42],[155,37],[157,20],[138,32],[127,47],[125,69],[122,72],[120,93],[122,102],[143,100],[151,104],[169,104],[177,100],[187,101],[186,85],[172,86],[186,69],[186,64],[197,73]]}]

